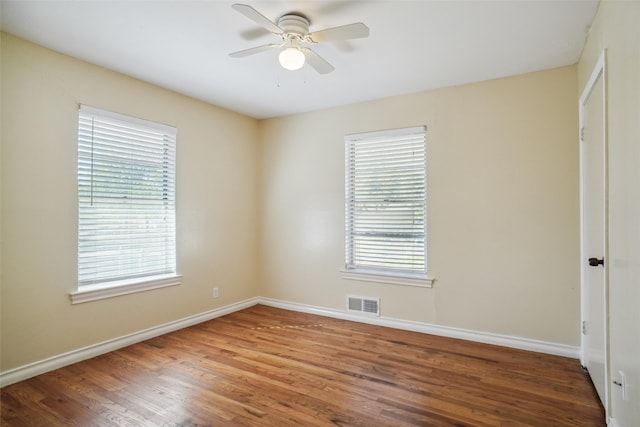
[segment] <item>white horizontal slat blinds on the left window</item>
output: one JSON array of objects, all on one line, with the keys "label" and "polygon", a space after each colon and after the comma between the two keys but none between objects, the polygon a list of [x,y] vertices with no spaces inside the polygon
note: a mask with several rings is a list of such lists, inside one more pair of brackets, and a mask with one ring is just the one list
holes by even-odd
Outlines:
[{"label": "white horizontal slat blinds on the left window", "polygon": [[170,126],[81,106],[79,286],[176,272]]}]

